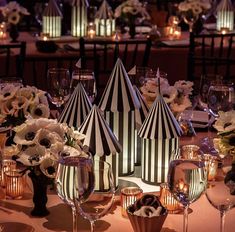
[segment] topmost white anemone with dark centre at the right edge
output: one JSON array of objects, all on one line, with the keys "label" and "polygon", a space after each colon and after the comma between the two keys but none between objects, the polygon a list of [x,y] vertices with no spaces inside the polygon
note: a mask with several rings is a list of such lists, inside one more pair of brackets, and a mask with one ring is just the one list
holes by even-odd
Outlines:
[{"label": "topmost white anemone with dark centre at the right edge", "polygon": [[235,110],[228,112],[219,111],[219,117],[217,118],[214,128],[218,132],[230,132],[235,130]]}]

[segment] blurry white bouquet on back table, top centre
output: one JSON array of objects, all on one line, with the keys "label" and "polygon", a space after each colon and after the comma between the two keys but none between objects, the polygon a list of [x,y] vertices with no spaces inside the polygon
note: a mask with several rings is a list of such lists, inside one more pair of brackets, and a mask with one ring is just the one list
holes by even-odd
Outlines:
[{"label": "blurry white bouquet on back table, top centre", "polygon": [[140,20],[150,19],[145,6],[138,0],[123,2],[115,9],[114,16],[116,18],[123,18],[126,21],[130,20],[130,18],[139,18]]}]

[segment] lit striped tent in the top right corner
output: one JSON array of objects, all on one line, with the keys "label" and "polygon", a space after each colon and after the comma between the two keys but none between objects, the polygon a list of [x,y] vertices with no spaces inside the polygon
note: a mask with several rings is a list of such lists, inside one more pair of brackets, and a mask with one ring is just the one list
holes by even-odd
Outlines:
[{"label": "lit striped tent in the top right corner", "polygon": [[216,30],[221,31],[223,28],[227,28],[229,31],[233,31],[234,6],[231,0],[221,0],[216,8],[216,12]]}]

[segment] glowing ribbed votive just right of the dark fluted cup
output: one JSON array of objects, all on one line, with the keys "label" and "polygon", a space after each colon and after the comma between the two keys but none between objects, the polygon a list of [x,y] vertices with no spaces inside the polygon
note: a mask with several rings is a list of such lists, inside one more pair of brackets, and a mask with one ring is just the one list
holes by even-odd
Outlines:
[{"label": "glowing ribbed votive just right of the dark fluted cup", "polygon": [[167,183],[160,184],[160,198],[162,205],[167,208],[169,213],[177,213],[182,210],[180,203],[169,191]]}]

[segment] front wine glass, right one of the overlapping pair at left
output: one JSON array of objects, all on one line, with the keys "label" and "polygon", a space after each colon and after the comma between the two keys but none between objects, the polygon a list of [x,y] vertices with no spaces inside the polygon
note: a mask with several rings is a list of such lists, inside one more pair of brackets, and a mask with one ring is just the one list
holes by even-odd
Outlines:
[{"label": "front wine glass, right one of the overlapping pair at left", "polygon": [[[78,212],[90,221],[91,232],[94,231],[95,221],[105,216],[111,209],[114,202],[114,179],[111,165],[105,161],[94,160],[95,190],[84,201],[75,196],[75,205]],[[83,191],[76,189],[75,192]]]}]

